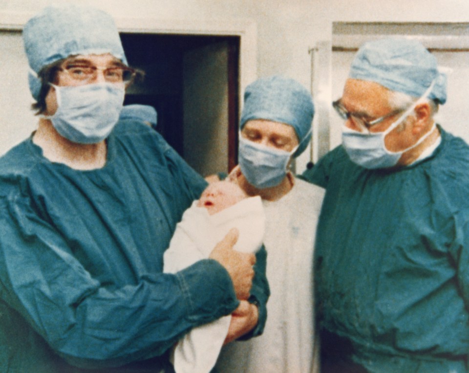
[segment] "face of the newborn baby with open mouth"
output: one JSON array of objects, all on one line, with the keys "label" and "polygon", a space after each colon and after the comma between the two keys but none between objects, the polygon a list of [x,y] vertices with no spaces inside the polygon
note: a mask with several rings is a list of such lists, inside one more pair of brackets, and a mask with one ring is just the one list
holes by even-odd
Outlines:
[{"label": "face of the newborn baby with open mouth", "polygon": [[197,207],[205,207],[210,215],[233,206],[246,195],[235,184],[229,181],[217,181],[204,190],[197,203]]}]

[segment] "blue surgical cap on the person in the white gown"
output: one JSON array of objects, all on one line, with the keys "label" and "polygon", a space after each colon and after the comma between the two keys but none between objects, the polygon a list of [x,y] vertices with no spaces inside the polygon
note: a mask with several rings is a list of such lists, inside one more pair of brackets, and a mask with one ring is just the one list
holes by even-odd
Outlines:
[{"label": "blue surgical cap on the person in the white gown", "polygon": [[298,156],[311,139],[313,116],[309,91],[294,79],[274,75],[258,79],[246,88],[239,125],[242,130],[249,120],[266,119],[292,126],[300,143],[294,154]]}]

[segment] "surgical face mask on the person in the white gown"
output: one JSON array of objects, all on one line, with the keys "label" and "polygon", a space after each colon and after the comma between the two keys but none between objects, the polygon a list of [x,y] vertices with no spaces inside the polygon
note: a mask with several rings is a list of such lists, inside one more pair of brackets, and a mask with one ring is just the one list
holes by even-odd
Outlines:
[{"label": "surgical face mask on the person in the white gown", "polygon": [[[310,132],[303,140],[308,138]],[[257,189],[277,186],[287,175],[288,163],[300,145],[301,143],[291,152],[286,152],[256,144],[244,138],[239,132],[239,168],[246,180]]]}]

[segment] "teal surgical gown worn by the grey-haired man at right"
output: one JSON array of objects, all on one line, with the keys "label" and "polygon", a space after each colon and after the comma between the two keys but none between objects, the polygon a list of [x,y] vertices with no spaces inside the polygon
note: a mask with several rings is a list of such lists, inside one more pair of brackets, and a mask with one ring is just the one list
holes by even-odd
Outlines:
[{"label": "teal surgical gown worn by the grey-haired man at right", "polygon": [[429,158],[367,170],[344,149],[303,178],[326,188],[315,251],[320,327],[370,372],[466,372],[469,147],[442,132]]}]

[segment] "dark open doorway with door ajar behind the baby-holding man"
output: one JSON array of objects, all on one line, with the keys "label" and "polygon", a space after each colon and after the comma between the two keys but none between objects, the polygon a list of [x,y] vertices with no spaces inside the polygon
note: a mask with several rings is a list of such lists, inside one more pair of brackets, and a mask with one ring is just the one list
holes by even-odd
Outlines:
[{"label": "dark open doorway with door ajar behind the baby-holding man", "polygon": [[146,72],[125,104],[158,112],[157,131],[201,175],[237,161],[238,36],[121,33],[130,66]]}]

